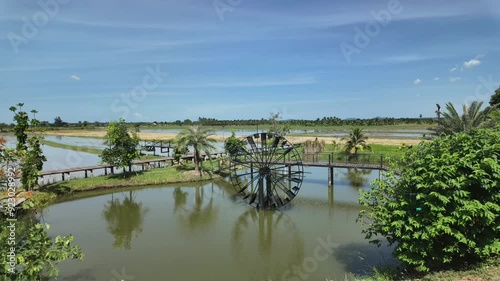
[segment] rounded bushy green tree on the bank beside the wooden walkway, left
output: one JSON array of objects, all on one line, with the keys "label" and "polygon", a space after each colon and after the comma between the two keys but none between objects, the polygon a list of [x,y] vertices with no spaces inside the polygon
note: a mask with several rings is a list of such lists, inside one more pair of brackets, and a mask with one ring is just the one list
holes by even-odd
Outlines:
[{"label": "rounded bushy green tree on the bank beside the wooden walkway, left", "polygon": [[102,162],[125,168],[140,156],[137,150],[139,139],[135,133],[128,131],[125,120],[109,123],[104,138],[108,147],[100,155]]}]

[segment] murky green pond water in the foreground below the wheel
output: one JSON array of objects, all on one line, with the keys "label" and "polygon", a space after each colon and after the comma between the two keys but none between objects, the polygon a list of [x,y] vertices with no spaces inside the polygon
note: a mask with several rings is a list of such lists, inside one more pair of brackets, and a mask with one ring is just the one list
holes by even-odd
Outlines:
[{"label": "murky green pond water in the foreground below the wheel", "polygon": [[[378,171],[306,169],[299,195],[280,211],[257,211],[218,181],[121,189],[44,210],[50,235],[73,234],[83,261],[57,280],[343,280],[392,263],[356,223],[359,190]],[[74,199],[74,200],[73,200]],[[56,280],[56,279],[54,279]]]}]

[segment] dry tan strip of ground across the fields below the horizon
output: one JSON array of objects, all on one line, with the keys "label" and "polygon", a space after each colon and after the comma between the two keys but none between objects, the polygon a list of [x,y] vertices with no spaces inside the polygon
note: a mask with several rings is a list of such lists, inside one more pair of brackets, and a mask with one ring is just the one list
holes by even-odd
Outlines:
[{"label": "dry tan strip of ground across the fields below the horizon", "polygon": [[[72,130],[72,131],[47,131],[47,135],[51,136],[67,136],[67,137],[88,137],[88,138],[103,138],[106,134],[105,131],[84,131],[84,130]],[[177,134],[172,133],[138,133],[141,140],[171,140],[175,138]],[[224,141],[227,136],[213,135],[213,139],[217,141]],[[301,143],[306,140],[314,140],[314,136],[287,136],[286,137],[292,143]],[[336,141],[337,143],[342,143],[340,137],[318,137],[319,140],[324,140],[326,143],[331,143]],[[369,144],[383,144],[383,145],[400,145],[402,143],[406,144],[419,144],[421,140],[419,139],[394,139],[394,138],[369,138]]]}]

